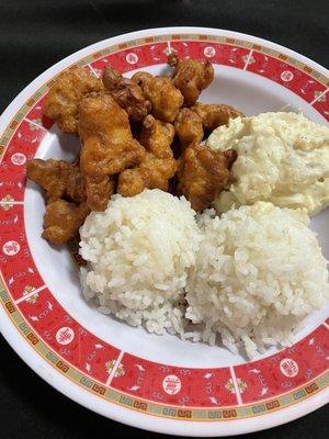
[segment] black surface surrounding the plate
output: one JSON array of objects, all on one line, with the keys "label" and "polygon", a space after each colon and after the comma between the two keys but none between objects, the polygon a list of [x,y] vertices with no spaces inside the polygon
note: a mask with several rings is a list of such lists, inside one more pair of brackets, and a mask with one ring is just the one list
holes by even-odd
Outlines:
[{"label": "black surface surrounding the plate", "polygon": [[[71,53],[125,32],[169,25],[228,29],[271,40],[328,67],[329,2],[319,0],[0,0],[0,111]],[[252,438],[328,436],[328,406]],[[60,395],[0,336],[0,438],[155,438]]]}]

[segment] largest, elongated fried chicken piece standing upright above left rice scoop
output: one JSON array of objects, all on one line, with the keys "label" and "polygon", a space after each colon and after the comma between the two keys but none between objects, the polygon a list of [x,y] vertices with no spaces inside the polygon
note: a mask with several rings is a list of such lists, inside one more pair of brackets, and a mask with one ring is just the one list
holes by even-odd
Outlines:
[{"label": "largest, elongated fried chicken piece standing upright above left rice scoop", "polygon": [[113,176],[139,165],[145,149],[133,138],[127,113],[109,92],[80,102],[79,135],[87,204],[91,211],[103,211],[114,190]]}]

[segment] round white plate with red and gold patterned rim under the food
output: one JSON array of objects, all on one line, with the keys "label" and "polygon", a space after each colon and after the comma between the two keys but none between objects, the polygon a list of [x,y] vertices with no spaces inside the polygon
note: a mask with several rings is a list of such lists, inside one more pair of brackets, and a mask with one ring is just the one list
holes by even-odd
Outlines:
[{"label": "round white plate with red and gold patterned rim under the food", "polygon": [[[251,362],[220,347],[158,337],[99,314],[82,297],[75,249],[41,238],[44,198],[26,182],[26,160],[73,158],[76,137],[43,117],[54,78],[73,65],[94,75],[111,64],[131,76],[169,71],[166,56],[209,59],[215,80],[204,102],[226,102],[247,115],[303,111],[329,119],[328,71],[268,41],[205,27],[146,30],[105,40],[49,68],[0,120],[0,328],[44,380],[112,419],[166,434],[224,436],[273,427],[329,399],[328,307],[314,313],[285,350]],[[328,209],[311,227],[329,257]]]}]

